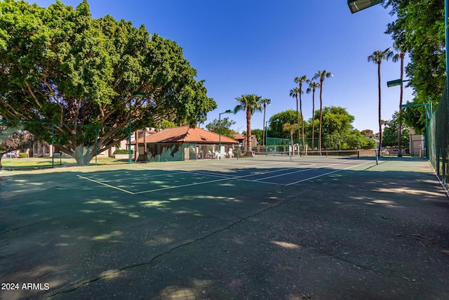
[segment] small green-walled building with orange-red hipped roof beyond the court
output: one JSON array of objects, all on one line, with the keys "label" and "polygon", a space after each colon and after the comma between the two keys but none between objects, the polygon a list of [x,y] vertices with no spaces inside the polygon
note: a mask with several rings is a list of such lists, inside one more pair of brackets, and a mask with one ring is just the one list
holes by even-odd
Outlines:
[{"label": "small green-walled building with orange-red hipped roof beyond the court", "polygon": [[180,126],[131,142],[136,144],[139,161],[170,162],[234,157],[239,142],[198,127]]}]

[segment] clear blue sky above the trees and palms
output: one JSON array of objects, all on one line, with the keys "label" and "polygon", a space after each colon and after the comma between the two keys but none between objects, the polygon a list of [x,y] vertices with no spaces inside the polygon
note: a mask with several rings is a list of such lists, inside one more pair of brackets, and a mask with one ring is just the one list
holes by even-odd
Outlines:
[{"label": "clear blue sky above the trees and palms", "polygon": [[[64,0],[77,6],[81,0]],[[33,2],[33,1],[30,1]],[[34,1],[48,6],[51,0]],[[293,79],[314,76],[318,70],[332,72],[323,86],[323,105],[341,106],[355,117],[358,130],[378,132],[377,65],[368,63],[373,51],[392,46],[384,34],[394,20],[377,5],[351,14],[346,0],[91,0],[93,18],[112,15],[144,24],[177,42],[184,56],[206,80],[208,96],[220,112],[232,109],[236,97],[255,93],[272,100],[267,119],[283,110],[295,110],[289,96]],[[406,60],[406,63],[408,60]],[[399,86],[387,88],[387,81],[400,77],[400,64],[384,61],[382,72],[382,119],[398,110]],[[404,102],[413,91],[405,89]],[[319,108],[319,91],[316,93]],[[311,118],[311,94],[302,96],[304,119]],[[222,115],[236,122],[234,129],[246,130],[246,115]],[[262,129],[263,113],[256,112],[253,129]]]}]

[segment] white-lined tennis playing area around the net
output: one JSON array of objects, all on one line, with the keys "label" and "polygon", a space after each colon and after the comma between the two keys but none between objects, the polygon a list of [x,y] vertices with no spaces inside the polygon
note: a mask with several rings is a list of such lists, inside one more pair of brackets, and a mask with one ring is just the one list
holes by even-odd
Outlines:
[{"label": "white-lined tennis playing area around the net", "polygon": [[294,185],[373,163],[375,159],[353,157],[300,157],[295,161],[290,157],[255,157],[168,166],[142,164],[133,171],[95,172],[91,176],[78,177],[135,195],[225,181]]}]

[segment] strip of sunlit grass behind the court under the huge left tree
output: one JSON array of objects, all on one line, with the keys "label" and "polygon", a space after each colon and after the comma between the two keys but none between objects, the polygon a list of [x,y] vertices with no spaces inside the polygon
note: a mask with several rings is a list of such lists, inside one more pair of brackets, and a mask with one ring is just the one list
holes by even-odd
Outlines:
[{"label": "strip of sunlit grass behind the court under the huge left tree", "polygon": [[[128,159],[115,159],[109,157],[101,157],[97,159],[98,165],[104,164],[127,164]],[[29,157],[29,158],[9,158],[1,159],[3,169],[20,169],[20,168],[47,168],[52,166],[51,157]],[[95,157],[91,160],[91,165],[95,165]],[[76,166],[73,158],[55,157],[53,160],[54,167]]]}]

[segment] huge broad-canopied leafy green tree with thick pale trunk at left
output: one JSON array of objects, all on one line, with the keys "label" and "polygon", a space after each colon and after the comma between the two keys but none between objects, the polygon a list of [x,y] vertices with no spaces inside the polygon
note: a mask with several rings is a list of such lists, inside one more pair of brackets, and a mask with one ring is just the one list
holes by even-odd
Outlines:
[{"label": "huge broad-canopied leafy green tree with thick pale trunk at left", "polygon": [[27,130],[78,164],[127,138],[130,119],[133,130],[166,116],[194,126],[216,107],[174,41],[93,19],[86,0],[4,0],[0,15],[0,114],[44,122]]}]

